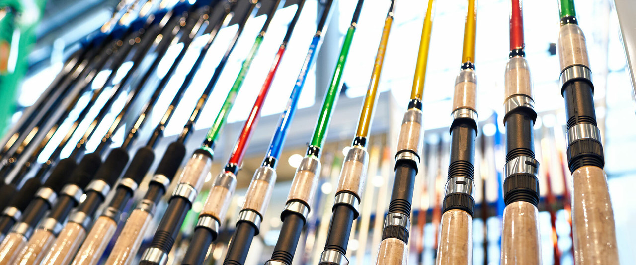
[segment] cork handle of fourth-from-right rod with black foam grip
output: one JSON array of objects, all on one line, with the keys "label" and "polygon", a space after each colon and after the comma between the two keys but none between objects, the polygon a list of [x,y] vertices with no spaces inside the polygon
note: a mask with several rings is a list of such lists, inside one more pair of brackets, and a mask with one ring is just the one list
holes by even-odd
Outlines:
[{"label": "cork handle of fourth-from-right rod with black foam grip", "polygon": [[38,265],[44,259],[47,250],[51,248],[55,241],[55,235],[46,229],[36,229],[27,246],[22,248],[16,264],[19,265]]}]

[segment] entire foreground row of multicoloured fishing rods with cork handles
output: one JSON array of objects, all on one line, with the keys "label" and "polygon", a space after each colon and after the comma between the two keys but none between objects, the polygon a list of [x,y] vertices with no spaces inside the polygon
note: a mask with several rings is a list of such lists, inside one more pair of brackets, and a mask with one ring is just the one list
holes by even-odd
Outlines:
[{"label": "entire foreground row of multicoloured fishing rods with cork handles", "polygon": [[[219,132],[226,122],[226,116],[244,82],[252,59],[265,38],[268,25],[279,9],[280,0],[197,1],[193,4],[183,1],[173,8],[166,8],[165,1],[158,3],[158,6],[154,2],[134,1],[122,4],[121,8],[114,13],[111,22],[104,25],[95,38],[83,43],[83,48],[69,57],[60,74],[45,91],[45,95],[36,102],[30,112],[24,113],[25,118],[18,122],[9,136],[4,139],[4,148],[0,155],[4,161],[2,173],[6,175],[7,183],[0,188],[4,190],[0,194],[10,194],[9,196],[15,194],[15,196],[13,199],[3,199],[10,203],[4,206],[6,210],[0,217],[2,218],[0,228],[3,229],[3,235],[6,234],[0,245],[0,264],[97,264],[99,262],[108,241],[113,238],[118,227],[120,221],[118,218],[123,211],[126,211],[126,204],[153,164],[154,147],[162,138],[165,126],[173,117],[174,109],[179,104],[183,92],[190,85],[219,29],[227,21],[226,18],[232,14],[232,19],[238,17],[239,29],[215,68],[183,131],[176,141],[170,143],[160,160],[142,201],[125,220],[118,240],[108,254],[106,264],[133,262],[135,254],[139,251],[141,238],[150,229],[148,227],[150,219],[160,214],[156,211],[156,204],[168,191],[169,184],[186,155],[184,142],[193,131],[193,125],[200,117],[200,110],[214,89],[237,39],[249,18],[252,17],[252,13],[256,12],[257,8],[259,12],[265,10],[266,22],[245,57],[239,75],[202,145],[193,152],[177,178],[167,210],[153,233],[149,247],[142,251],[139,262],[139,264],[167,264],[168,254],[174,247],[186,213],[191,209],[198,194],[202,192],[205,178],[210,173],[214,146]],[[278,241],[271,259],[266,264],[291,265],[303,227],[307,224],[308,214],[315,203],[321,171],[322,148],[333,107],[340,95],[342,70],[347,61],[363,3],[363,0],[357,1],[349,29],[343,39],[342,50],[332,80],[322,103],[314,134],[305,157],[296,169],[287,202],[280,215],[282,226]],[[190,246],[181,261],[182,264],[202,264],[209,246],[221,232],[220,227],[223,225],[221,222],[225,220],[228,206],[232,201],[237,183],[236,175],[242,165],[245,150],[249,145],[253,129],[258,123],[273,76],[287,48],[287,42],[300,17],[305,0],[300,0],[297,4],[296,13],[289,22],[286,36],[274,57],[272,68],[265,78],[230,158],[221,172],[212,178],[212,187],[198,217]],[[333,1],[326,1],[321,6],[315,35],[286,109],[280,116],[278,128],[272,137],[263,163],[256,169],[245,194],[245,201],[235,223],[224,264],[244,264],[251,242],[254,236],[259,234],[276,181],[275,168],[284,145],[287,128],[293,119],[308,69],[320,47],[332,6]],[[502,213],[501,248],[501,261],[504,264],[541,262],[537,222],[539,162],[535,159],[532,130],[536,112],[533,107],[534,95],[530,85],[529,66],[524,58],[521,6],[520,1],[512,0],[511,48],[508,51],[510,61],[506,66],[505,75],[506,101],[503,120],[506,125],[506,165],[502,190],[506,208]],[[560,73],[562,96],[565,99],[568,116],[567,132],[565,132],[566,154],[573,178],[572,226],[576,262],[577,264],[618,264],[611,203],[602,170],[604,159],[600,132],[596,127],[591,96],[593,83],[585,40],[577,25],[572,0],[560,0],[559,7],[562,27],[558,51],[562,66],[562,73]],[[239,10],[242,13],[237,15],[240,13]],[[346,257],[347,245],[352,223],[360,215],[359,206],[363,199],[369,164],[367,150],[369,131],[378,94],[382,62],[393,22],[393,10],[394,3],[391,1],[357,132],[349,151],[343,158],[342,170],[333,198],[333,212],[330,216],[326,243],[320,255],[319,264],[349,263]],[[395,179],[388,213],[382,228],[377,264],[406,264],[407,262],[411,204],[415,192],[413,188],[415,176],[422,162],[420,157],[424,156],[422,97],[433,10],[434,0],[429,0],[418,50],[413,89],[408,110],[404,113],[401,122],[397,152],[394,156]],[[455,80],[451,114],[453,122],[449,129],[450,163],[445,197],[442,201],[436,264],[469,264],[471,262],[475,187],[474,140],[478,130],[474,61],[476,11],[476,1],[468,0],[462,64]],[[183,85],[177,91],[168,110],[165,111],[160,124],[156,125],[148,143],[139,148],[130,159],[128,149],[137,140],[139,129],[148,120],[153,105],[162,94],[167,78],[172,75],[177,64],[172,65],[154,90],[151,89],[153,91],[151,97],[144,104],[141,115],[132,123],[132,128],[125,132],[125,140],[121,147],[111,149],[113,134],[123,126],[123,118],[129,114],[127,112],[130,106],[141,94],[145,81],[156,70],[157,64],[165,55],[170,43],[179,41],[184,45],[175,59],[178,62],[183,59],[187,46],[199,34],[199,31],[204,31],[209,39],[201,48],[197,61],[186,75]],[[139,73],[142,75],[141,82],[137,85],[127,85],[140,67],[142,59],[149,52],[153,52],[156,56],[149,69]],[[114,83],[113,78],[116,73],[114,69],[128,61],[128,58],[132,61],[132,67],[119,82]],[[113,87],[108,92],[106,92],[106,85],[89,91],[89,84],[93,82],[95,74],[104,68],[113,69],[105,82],[112,84]],[[95,129],[104,120],[104,116],[111,110],[114,101],[123,90],[127,90],[125,106],[116,115],[106,134],[95,136]],[[45,163],[38,165],[36,174],[27,176],[28,171],[31,171],[31,167],[37,162],[37,154],[51,140],[53,132],[57,131],[64,118],[73,110],[80,95],[86,92],[93,95],[88,104],[97,100],[102,93],[109,93],[110,97],[97,117],[90,123],[81,140],[76,143],[69,157],[60,160],[61,149],[74,134],[79,122],[85,118],[90,108],[84,108],[81,111],[78,120],[73,122],[59,148]],[[94,152],[85,154],[86,143],[93,137],[101,138],[100,143]],[[103,161],[102,156],[106,156]],[[129,160],[130,165],[128,165]],[[113,189],[112,192],[111,189]],[[112,194],[113,199],[108,202],[102,215],[93,220],[97,209],[106,201],[109,193]]]}]

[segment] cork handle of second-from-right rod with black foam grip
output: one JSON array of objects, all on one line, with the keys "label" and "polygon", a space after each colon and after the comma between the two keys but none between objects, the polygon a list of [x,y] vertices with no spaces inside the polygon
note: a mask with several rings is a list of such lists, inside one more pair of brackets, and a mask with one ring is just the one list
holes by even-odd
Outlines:
[{"label": "cork handle of second-from-right rod with black foam grip", "polygon": [[116,230],[117,224],[113,219],[103,216],[97,218],[71,264],[96,265]]}]

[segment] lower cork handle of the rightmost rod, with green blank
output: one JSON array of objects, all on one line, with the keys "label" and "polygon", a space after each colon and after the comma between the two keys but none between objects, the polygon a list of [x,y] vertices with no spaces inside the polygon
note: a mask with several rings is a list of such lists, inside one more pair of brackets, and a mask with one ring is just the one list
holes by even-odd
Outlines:
[{"label": "lower cork handle of the rightmost rod, with green blank", "polygon": [[572,173],[572,227],[576,264],[618,264],[614,212],[602,168]]}]

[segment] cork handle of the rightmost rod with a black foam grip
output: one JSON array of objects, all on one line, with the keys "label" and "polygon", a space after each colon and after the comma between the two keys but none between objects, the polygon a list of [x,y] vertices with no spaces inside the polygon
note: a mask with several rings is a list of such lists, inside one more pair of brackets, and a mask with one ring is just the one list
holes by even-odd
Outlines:
[{"label": "cork handle of the rightmost rod with a black foam grip", "polygon": [[139,209],[132,211],[105,264],[132,264],[152,218],[148,211]]}]

